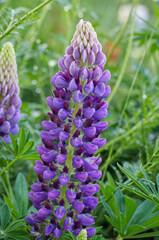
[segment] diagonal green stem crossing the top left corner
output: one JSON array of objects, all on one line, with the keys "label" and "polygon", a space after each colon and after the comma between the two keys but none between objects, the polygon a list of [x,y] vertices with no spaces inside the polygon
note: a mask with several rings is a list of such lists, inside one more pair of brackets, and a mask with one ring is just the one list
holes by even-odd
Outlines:
[{"label": "diagonal green stem crossing the top left corner", "polygon": [[26,13],[23,17],[21,17],[20,19],[18,19],[15,23],[13,23],[8,29],[6,29],[1,35],[0,35],[0,40],[2,40],[4,37],[6,37],[10,32],[13,31],[13,29],[15,29],[16,27],[20,26],[21,23],[27,19],[28,17],[30,17],[32,14],[34,14],[35,12],[37,12],[39,9],[41,9],[42,7],[44,7],[45,5],[47,5],[49,2],[51,2],[52,0],[46,0],[45,2],[39,4],[37,7],[35,7],[34,9],[32,9],[31,11],[29,11],[28,13]]}]

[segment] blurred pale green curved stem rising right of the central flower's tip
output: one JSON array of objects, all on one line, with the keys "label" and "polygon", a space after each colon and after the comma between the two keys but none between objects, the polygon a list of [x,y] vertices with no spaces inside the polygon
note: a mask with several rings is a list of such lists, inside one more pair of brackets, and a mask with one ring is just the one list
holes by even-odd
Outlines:
[{"label": "blurred pale green curved stem rising right of the central flower's tip", "polygon": [[124,62],[123,62],[122,68],[121,68],[121,72],[120,72],[119,77],[116,81],[115,87],[113,88],[113,90],[111,92],[111,95],[108,98],[108,102],[111,102],[112,98],[116,94],[116,92],[119,88],[119,85],[121,83],[121,80],[124,76],[124,73],[125,73],[125,70],[126,70],[126,67],[127,67],[127,64],[128,64],[129,56],[130,56],[130,53],[131,53],[132,42],[133,42],[133,34],[134,34],[134,26],[135,26],[135,14],[134,14],[132,25],[131,25],[131,34],[130,34],[129,42],[128,42],[128,45],[127,45],[127,51],[126,51]]}]

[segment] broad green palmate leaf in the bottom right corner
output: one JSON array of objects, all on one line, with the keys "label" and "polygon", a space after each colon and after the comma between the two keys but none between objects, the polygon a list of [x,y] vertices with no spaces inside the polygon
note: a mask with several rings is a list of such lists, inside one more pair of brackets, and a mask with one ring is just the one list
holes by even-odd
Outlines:
[{"label": "broad green palmate leaf in the bottom right corner", "polygon": [[145,200],[137,206],[135,200],[123,196],[120,189],[116,191],[113,198],[118,211],[114,211],[109,201],[106,202],[103,199],[101,201],[108,214],[107,221],[124,239],[159,226],[159,212],[155,212],[156,204],[152,201]]}]

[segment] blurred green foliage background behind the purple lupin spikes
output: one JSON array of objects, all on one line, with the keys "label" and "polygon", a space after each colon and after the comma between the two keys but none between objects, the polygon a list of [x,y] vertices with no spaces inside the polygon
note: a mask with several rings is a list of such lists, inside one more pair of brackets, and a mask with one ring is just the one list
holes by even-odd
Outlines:
[{"label": "blurred green foliage background behind the purple lupin spikes", "polygon": [[[0,0],[0,32],[41,2]],[[155,181],[159,157],[148,162],[159,135],[158,0],[56,0],[6,36],[0,47],[6,41],[11,41],[15,47],[23,103],[20,126],[30,132],[36,149],[41,144],[41,121],[48,119],[46,97],[53,89],[50,80],[58,71],[58,60],[65,54],[81,18],[90,21],[95,28],[108,56],[105,69],[112,74],[109,127],[103,134],[107,144],[100,150],[102,181],[110,180],[108,174],[123,181],[116,162],[136,174],[140,164],[146,165]],[[33,166],[34,161],[29,159],[17,162],[10,169],[11,181],[15,181],[17,172],[21,171],[31,184],[36,177]],[[99,209],[98,226],[104,221],[100,205],[95,214]],[[107,236],[109,231],[110,226],[105,223],[103,234]]]}]

